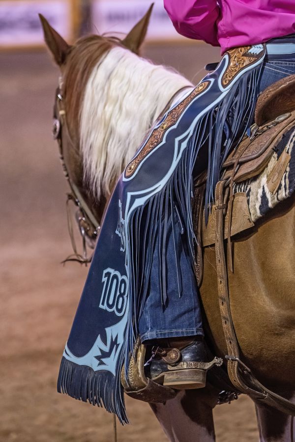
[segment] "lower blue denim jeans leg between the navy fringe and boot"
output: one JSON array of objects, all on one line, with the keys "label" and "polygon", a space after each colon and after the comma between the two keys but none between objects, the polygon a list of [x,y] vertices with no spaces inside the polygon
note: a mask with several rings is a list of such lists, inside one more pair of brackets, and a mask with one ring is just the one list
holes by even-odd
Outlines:
[{"label": "lower blue denim jeans leg between the navy fringe and boot", "polygon": [[[159,296],[160,269],[159,239],[155,244],[152,257],[149,292],[139,319],[139,332],[142,342],[161,338],[204,335],[198,287],[188,251],[182,244],[180,227],[176,222],[177,244],[174,244],[172,223],[167,230],[166,280],[167,299],[163,304]],[[180,259],[176,262],[175,248]],[[177,253],[178,254],[178,253]]]}]

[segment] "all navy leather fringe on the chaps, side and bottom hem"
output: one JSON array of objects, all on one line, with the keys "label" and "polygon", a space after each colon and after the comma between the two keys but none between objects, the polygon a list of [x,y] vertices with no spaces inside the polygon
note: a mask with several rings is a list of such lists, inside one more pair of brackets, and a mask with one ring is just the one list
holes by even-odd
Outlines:
[{"label": "all navy leather fringe on the chaps, side and bottom hem", "polygon": [[[110,413],[115,413],[122,424],[129,423],[123,388],[120,384],[120,372],[125,364],[125,378],[128,382],[128,364],[136,339],[139,334],[138,320],[148,296],[149,277],[154,253],[159,260],[159,296],[165,305],[167,294],[166,247],[167,229],[172,224],[175,245],[175,262],[177,267],[178,290],[181,294],[181,275],[179,262],[180,252],[177,251],[177,230],[180,231],[181,244],[194,272],[194,245],[196,237],[192,220],[193,172],[200,149],[208,148],[208,181],[206,193],[206,209],[214,199],[215,184],[219,179],[222,163],[229,150],[242,138],[253,118],[257,96],[261,65],[246,72],[220,99],[216,106],[204,114],[197,123],[182,152],[181,158],[171,178],[162,190],[130,216],[125,223],[126,234],[126,269],[129,280],[128,323],[126,339],[120,349],[117,373],[93,371],[86,365],[77,365],[62,358],[58,391],[75,399],[89,402],[99,407],[104,406]],[[210,74],[211,75],[211,74]],[[209,105],[210,103],[208,103]],[[232,121],[229,115],[233,112]],[[226,137],[223,135],[227,129]],[[226,138],[226,139],[225,139]],[[202,164],[204,167],[205,165]],[[200,170],[201,172],[201,170]],[[126,221],[126,220],[125,220]],[[155,250],[156,238],[159,245]],[[102,383],[102,379],[104,382]],[[105,381],[106,380],[106,381]]]}]

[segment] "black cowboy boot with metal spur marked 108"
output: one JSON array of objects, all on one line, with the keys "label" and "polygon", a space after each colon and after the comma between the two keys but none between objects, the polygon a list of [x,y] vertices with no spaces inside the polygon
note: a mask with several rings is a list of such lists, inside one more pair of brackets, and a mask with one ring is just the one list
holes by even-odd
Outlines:
[{"label": "black cowboy boot with metal spur marked 108", "polygon": [[208,362],[203,336],[157,339],[145,373],[152,381],[175,389],[204,388],[207,370],[222,359]]}]

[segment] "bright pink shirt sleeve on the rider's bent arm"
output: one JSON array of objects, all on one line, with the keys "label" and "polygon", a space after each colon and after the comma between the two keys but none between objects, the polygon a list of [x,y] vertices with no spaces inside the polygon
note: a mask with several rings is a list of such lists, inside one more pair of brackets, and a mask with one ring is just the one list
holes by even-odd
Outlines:
[{"label": "bright pink shirt sleeve on the rider's bent arm", "polygon": [[216,21],[220,14],[217,0],[164,0],[164,7],[179,34],[220,46],[217,40]]}]

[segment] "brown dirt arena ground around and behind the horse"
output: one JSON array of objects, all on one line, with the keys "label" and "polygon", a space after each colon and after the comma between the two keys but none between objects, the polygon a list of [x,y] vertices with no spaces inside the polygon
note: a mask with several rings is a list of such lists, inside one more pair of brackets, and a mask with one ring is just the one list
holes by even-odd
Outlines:
[{"label": "brown dirt arena ground around and behind the horse", "polygon": [[[149,47],[146,55],[197,82],[218,60],[205,46]],[[45,53],[0,55],[0,441],[111,442],[112,416],[56,392],[59,360],[87,274],[71,252],[66,183],[51,117],[58,71]],[[147,404],[128,400],[118,442],[167,441]],[[218,442],[258,440],[246,397],[217,407]],[[193,441],[185,441],[193,442]]]}]

